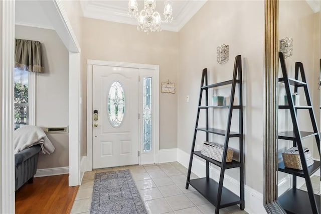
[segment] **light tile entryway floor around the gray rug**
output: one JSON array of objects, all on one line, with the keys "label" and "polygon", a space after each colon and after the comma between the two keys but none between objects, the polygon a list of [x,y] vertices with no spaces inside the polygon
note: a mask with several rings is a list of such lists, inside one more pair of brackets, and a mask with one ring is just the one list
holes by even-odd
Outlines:
[{"label": "light tile entryway floor around the gray rug", "polygon": [[[187,168],[178,162],[97,169],[86,172],[71,213],[89,213],[96,172],[129,169],[148,213],[214,213],[213,206],[193,187],[185,189]],[[197,178],[191,174],[191,179]],[[220,213],[247,213],[237,205],[220,209]]]}]

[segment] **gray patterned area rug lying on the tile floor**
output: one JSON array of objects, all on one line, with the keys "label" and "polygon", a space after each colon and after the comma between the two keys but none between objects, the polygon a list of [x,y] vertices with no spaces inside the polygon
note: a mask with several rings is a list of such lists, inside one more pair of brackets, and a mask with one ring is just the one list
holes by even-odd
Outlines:
[{"label": "gray patterned area rug lying on the tile floor", "polygon": [[128,169],[95,174],[90,213],[147,213]]}]

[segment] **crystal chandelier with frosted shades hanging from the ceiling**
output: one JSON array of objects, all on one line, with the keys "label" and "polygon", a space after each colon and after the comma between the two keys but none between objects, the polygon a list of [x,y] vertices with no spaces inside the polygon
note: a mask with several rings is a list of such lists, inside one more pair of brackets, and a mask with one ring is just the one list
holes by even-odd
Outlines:
[{"label": "crystal chandelier with frosted shades hanging from the ceiling", "polygon": [[143,32],[154,32],[161,31],[161,24],[172,22],[172,1],[165,1],[164,7],[164,19],[162,20],[161,15],[155,10],[156,0],[144,0],[144,9],[140,11],[138,15],[138,7],[136,0],[129,0],[128,2],[128,15],[130,17],[136,18],[138,21],[137,30]]}]

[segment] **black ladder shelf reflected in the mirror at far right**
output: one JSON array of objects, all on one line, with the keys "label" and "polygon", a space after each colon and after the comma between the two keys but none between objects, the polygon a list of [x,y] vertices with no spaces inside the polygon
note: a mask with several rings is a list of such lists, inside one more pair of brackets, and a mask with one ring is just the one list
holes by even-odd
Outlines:
[{"label": "black ladder shelf reflected in the mirror at far right", "polygon": [[[278,134],[278,139],[293,141],[293,146],[297,146],[300,160],[302,163],[303,170],[286,168],[284,163],[278,164],[278,170],[288,174],[292,174],[292,188],[284,192],[278,197],[278,201],[283,209],[288,213],[313,213],[320,214],[320,196],[313,193],[310,176],[320,168],[320,162],[314,161],[313,165],[307,167],[304,151],[302,146],[302,140],[305,138],[313,137],[315,138],[318,151],[320,151],[320,137],[317,130],[315,116],[312,108],[311,98],[309,90],[307,87],[303,64],[301,62],[295,63],[295,78],[288,78],[286,72],[286,66],[284,62],[284,57],[281,52],[279,52],[279,60],[282,69],[282,78],[279,78],[279,82],[283,82],[286,91],[286,97],[288,105],[279,105],[279,109],[288,109],[291,114],[293,131],[282,132]],[[298,74],[301,74],[302,81],[298,80]],[[293,98],[291,95],[290,85],[294,86],[294,92],[297,92],[298,87],[303,87],[304,94],[306,98],[306,106],[294,105]],[[303,132],[299,130],[297,121],[297,110],[308,110],[310,115],[311,124],[313,127],[313,132]],[[305,179],[305,184],[307,192],[296,188],[296,176]]]}]

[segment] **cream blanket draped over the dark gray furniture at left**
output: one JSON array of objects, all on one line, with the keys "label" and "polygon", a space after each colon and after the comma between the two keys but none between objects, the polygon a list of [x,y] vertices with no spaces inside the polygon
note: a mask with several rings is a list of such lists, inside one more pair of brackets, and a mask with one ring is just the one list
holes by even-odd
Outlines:
[{"label": "cream blanket draped over the dark gray furniture at left", "polygon": [[44,130],[36,126],[23,126],[14,132],[15,154],[39,144],[44,154],[55,151],[54,145],[48,139]]}]

